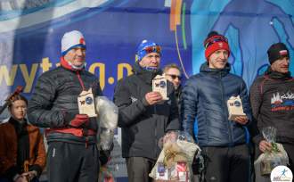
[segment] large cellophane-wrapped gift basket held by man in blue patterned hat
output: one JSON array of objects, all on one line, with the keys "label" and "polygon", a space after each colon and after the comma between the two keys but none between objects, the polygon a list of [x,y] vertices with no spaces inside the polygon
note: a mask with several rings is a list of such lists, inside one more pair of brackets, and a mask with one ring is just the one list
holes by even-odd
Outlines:
[{"label": "large cellophane-wrapped gift basket held by man in blue patterned hat", "polygon": [[155,181],[192,181],[192,161],[200,151],[192,137],[182,131],[170,131],[162,143],[162,151],[149,176]]}]

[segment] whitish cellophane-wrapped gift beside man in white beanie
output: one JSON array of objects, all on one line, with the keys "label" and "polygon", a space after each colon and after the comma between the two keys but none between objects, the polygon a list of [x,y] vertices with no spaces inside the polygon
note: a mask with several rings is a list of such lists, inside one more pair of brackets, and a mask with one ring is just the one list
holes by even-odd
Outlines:
[{"label": "whitish cellophane-wrapped gift beside man in white beanie", "polygon": [[98,146],[102,150],[110,150],[114,131],[118,127],[118,107],[106,96],[97,96],[95,98],[95,109],[98,112],[99,124]]}]

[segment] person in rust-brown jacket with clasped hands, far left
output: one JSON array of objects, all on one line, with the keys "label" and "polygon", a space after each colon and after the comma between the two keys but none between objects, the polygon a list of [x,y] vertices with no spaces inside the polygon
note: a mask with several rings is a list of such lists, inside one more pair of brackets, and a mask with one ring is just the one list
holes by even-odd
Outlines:
[{"label": "person in rust-brown jacket with clasped hands, far left", "polygon": [[0,181],[38,181],[45,168],[43,135],[26,120],[27,106],[24,96],[13,96],[8,103],[11,117],[0,124]]}]

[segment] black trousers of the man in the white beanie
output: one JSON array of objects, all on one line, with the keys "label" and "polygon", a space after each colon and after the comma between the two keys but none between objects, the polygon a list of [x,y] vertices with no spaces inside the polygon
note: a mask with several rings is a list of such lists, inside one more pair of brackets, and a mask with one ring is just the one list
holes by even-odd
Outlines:
[{"label": "black trousers of the man in the white beanie", "polygon": [[99,173],[96,145],[50,142],[47,153],[49,182],[96,182]]}]

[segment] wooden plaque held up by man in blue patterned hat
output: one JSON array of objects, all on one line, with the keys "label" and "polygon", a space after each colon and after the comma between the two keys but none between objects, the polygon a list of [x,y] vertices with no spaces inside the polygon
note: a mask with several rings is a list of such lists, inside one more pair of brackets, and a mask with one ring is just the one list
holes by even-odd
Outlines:
[{"label": "wooden plaque held up by man in blue patterned hat", "polygon": [[159,92],[162,100],[168,100],[167,97],[167,79],[164,76],[157,75],[152,80],[152,91]]}]

